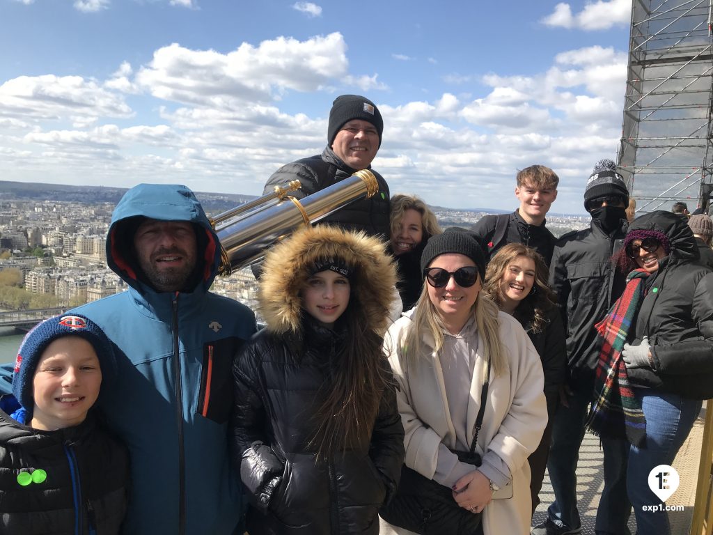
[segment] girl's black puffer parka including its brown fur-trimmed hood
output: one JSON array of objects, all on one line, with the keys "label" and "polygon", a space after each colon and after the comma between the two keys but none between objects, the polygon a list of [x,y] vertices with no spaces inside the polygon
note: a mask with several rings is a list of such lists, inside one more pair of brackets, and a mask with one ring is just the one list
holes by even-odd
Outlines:
[{"label": "girl's black puffer parka including its brown fur-trimmed hood", "polygon": [[[384,389],[371,433],[352,449],[317,459],[310,441],[321,391],[342,365],[344,330],[383,335],[395,270],[378,240],[349,238],[327,225],[313,230],[321,242],[302,233],[289,241],[289,250],[284,242],[265,260],[260,310],[267,328],[239,352],[233,367],[232,446],[251,498],[247,531],[376,535],[377,511],[394,494],[404,462],[394,387]],[[299,290],[323,258],[354,267],[349,306],[358,300],[368,325],[339,327],[337,321],[329,330],[304,317]],[[383,366],[391,378],[385,357]]]}]

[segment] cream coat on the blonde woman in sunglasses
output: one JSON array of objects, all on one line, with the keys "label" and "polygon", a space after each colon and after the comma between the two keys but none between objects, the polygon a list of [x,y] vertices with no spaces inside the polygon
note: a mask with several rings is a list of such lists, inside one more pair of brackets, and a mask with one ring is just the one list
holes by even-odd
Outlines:
[{"label": "cream coat on the blonde woman in sunglasses", "polygon": [[[406,466],[432,479],[438,462],[438,444],[453,447],[456,434],[446,401],[443,370],[432,350],[433,338],[424,336],[428,353],[421,352],[415,364],[406,360],[397,343],[411,324],[409,316],[406,314],[391,325],[384,348],[401,387],[396,397],[406,432]],[[509,373],[493,378],[491,371],[488,407],[476,451],[481,456],[486,451],[496,452],[508,464],[513,476],[513,498],[491,501],[483,514],[483,531],[485,535],[526,535],[530,532],[532,514],[527,459],[538,447],[547,424],[543,370],[540,357],[520,323],[505,312],[499,313],[498,322]],[[471,432],[463,441],[467,444],[473,441],[484,374],[485,362],[479,358],[471,380],[467,416]]]}]

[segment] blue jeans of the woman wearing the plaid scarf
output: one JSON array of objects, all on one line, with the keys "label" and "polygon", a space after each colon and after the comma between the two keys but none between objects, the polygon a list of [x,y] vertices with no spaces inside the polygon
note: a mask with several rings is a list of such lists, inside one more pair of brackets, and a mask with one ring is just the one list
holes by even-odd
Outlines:
[{"label": "blue jeans of the woman wearing the plaid scarf", "polygon": [[649,472],[659,464],[673,463],[701,411],[702,402],[650,389],[637,388],[634,392],[646,417],[646,442],[641,448],[631,447],[627,473],[637,534],[670,535],[666,511],[642,511],[642,506],[662,504],[649,488]]}]

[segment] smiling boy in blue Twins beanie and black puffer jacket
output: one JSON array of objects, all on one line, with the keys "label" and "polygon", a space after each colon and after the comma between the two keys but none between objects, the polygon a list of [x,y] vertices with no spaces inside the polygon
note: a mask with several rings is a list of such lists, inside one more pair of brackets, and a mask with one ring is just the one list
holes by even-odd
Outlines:
[{"label": "smiling boy in blue Twins beanie and black puffer jacket", "polygon": [[119,532],[128,454],[91,410],[115,368],[86,317],[53,317],[26,335],[13,393],[0,398],[0,532]]}]

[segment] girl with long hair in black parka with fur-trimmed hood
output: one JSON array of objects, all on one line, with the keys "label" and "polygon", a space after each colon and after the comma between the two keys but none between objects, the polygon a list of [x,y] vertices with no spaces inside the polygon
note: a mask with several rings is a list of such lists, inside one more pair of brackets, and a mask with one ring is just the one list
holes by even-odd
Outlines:
[{"label": "girl with long hair in black parka with fur-trimmed hood", "polygon": [[263,268],[267,327],[233,366],[247,530],[378,534],[404,460],[381,352],[394,265],[376,238],[319,225],[272,248]]}]

